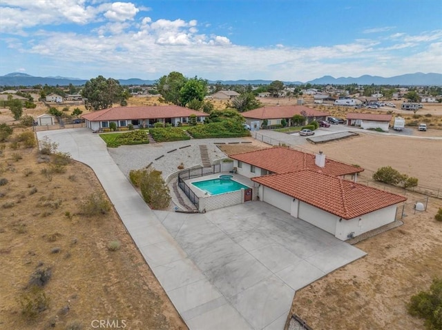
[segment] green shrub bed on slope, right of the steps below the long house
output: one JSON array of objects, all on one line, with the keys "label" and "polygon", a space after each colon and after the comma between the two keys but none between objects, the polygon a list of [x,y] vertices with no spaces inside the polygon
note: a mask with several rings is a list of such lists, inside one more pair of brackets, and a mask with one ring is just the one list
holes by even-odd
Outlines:
[{"label": "green shrub bed on slope, right of the steps below the long house", "polygon": [[241,123],[222,121],[189,127],[187,130],[194,138],[236,138],[250,136],[249,130],[244,129]]}]

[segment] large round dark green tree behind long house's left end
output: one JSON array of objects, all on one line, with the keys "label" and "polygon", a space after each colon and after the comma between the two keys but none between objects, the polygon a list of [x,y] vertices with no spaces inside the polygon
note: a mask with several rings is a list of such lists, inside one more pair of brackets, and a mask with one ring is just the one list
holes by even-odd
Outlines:
[{"label": "large round dark green tree behind long house's left end", "polygon": [[86,100],[84,105],[88,110],[102,110],[111,107],[113,103],[120,103],[128,98],[128,94],[124,93],[124,89],[119,85],[119,81],[104,76],[86,81],[81,90],[81,96]]}]

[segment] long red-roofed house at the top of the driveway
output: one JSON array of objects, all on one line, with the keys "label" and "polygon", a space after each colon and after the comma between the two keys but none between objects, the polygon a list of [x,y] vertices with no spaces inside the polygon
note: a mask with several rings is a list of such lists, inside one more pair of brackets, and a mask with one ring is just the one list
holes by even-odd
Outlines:
[{"label": "long red-roofed house at the top of the driveway", "polygon": [[140,107],[111,107],[109,109],[90,112],[81,115],[86,127],[91,130],[100,130],[108,128],[110,123],[115,123],[117,127],[126,127],[132,124],[135,128],[152,127],[153,124],[170,123],[177,126],[178,123],[189,123],[189,116],[196,115],[198,123],[204,121],[206,114],[204,112],[191,110],[178,105],[164,106],[140,106]]}]

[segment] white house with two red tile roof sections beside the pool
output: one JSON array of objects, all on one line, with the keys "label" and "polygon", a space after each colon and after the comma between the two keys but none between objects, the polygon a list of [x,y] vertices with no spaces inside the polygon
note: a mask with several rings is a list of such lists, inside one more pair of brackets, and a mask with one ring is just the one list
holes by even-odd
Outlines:
[{"label": "white house with two red tile roof sections beside the pool", "polygon": [[[230,155],[238,174],[257,183],[259,200],[320,227],[340,240],[361,235],[396,217],[407,198],[359,185],[361,167],[294,149],[273,147]],[[352,176],[354,181],[347,181]],[[255,188],[256,189],[256,188]]]}]

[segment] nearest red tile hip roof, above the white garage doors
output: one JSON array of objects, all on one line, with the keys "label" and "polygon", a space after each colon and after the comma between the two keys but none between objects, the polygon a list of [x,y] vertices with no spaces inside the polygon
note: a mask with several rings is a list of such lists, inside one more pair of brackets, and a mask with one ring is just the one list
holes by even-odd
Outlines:
[{"label": "nearest red tile hip roof, above the white garage doors", "polygon": [[401,203],[404,196],[310,170],[251,178],[282,194],[349,220]]}]

